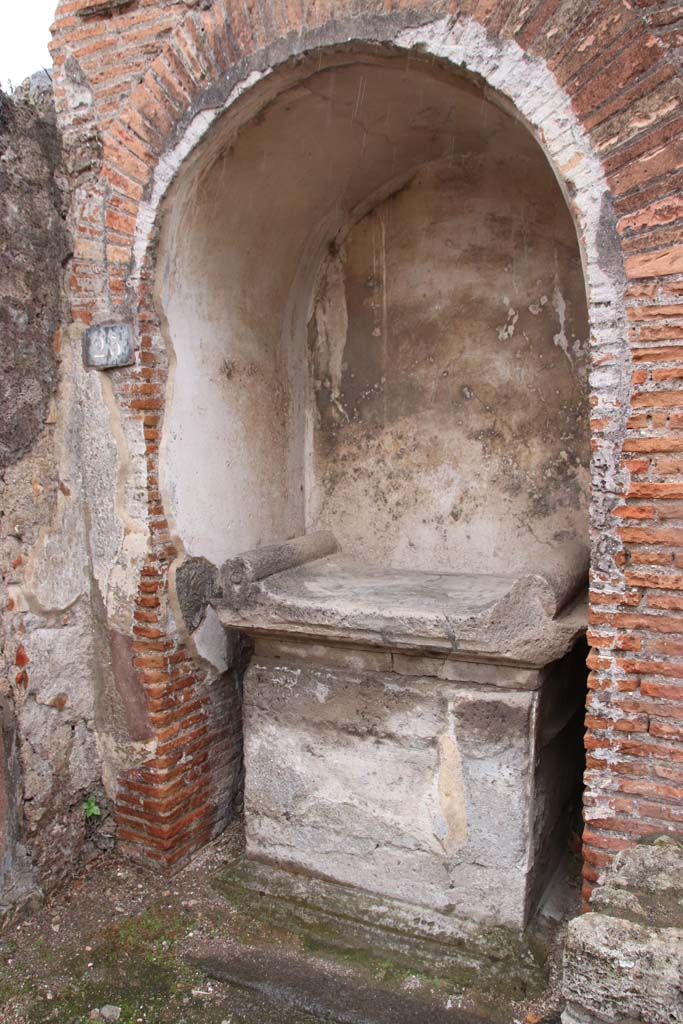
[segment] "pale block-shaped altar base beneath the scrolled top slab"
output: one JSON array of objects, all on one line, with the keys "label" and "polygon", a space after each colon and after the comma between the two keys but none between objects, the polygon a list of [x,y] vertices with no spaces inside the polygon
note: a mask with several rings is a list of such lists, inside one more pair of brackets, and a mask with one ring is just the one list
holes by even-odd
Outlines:
[{"label": "pale block-shaped altar base beneath the scrolled top slab", "polygon": [[566,797],[561,771],[543,775],[541,705],[533,691],[283,663],[257,645],[245,677],[249,853],[523,927]]}]

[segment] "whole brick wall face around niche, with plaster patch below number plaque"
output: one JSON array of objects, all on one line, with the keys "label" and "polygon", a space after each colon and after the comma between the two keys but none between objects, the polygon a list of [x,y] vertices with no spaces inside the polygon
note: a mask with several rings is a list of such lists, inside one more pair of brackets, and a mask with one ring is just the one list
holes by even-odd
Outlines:
[{"label": "whole brick wall face around niche, with plaster patch below number plaque", "polygon": [[672,5],[650,0],[59,3],[55,97],[75,189],[65,337],[78,349],[83,329],[106,321],[133,324],[136,337],[135,365],[90,375],[85,399],[112,442],[109,476],[95,473],[90,564],[106,629],[127,651],[116,686],[134,690],[129,707],[146,714],[137,761],[109,727],[101,744],[120,835],[136,855],[176,862],[213,835],[240,758],[237,675],[183,637],[174,611],[183,552],[159,488],[170,358],[152,294],[160,206],[238,96],[305,51],[370,43],[481,76],[533,131],[564,188],[593,365],[586,896],[615,852],[680,826],[680,33]]}]

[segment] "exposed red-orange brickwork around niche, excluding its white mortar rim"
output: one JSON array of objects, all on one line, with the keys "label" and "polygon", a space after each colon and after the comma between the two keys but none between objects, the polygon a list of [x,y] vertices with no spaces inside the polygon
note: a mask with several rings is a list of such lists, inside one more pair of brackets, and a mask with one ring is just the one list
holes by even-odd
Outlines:
[{"label": "exposed red-orange brickwork around niche, excluding its white mortar rim", "polygon": [[[154,759],[121,779],[122,842],[154,862],[187,856],[223,820],[212,759],[227,764],[240,757],[233,696],[209,698],[201,671],[168,633],[166,581],[175,549],[157,487],[166,366],[151,297],[152,248],[141,265],[134,259],[155,175],[202,97],[215,104],[226,76],[244,77],[241,69],[258,62],[266,46],[280,45],[283,59],[306,34],[311,46],[316,30],[318,38],[332,38],[345,17],[355,19],[359,39],[371,38],[382,17],[408,25],[447,15],[456,33],[457,19],[471,17],[488,39],[516,43],[545,62],[564,90],[611,191],[627,279],[628,319],[602,312],[598,299],[592,306],[596,319],[612,319],[593,325],[598,485],[586,735],[588,898],[615,851],[641,836],[680,828],[683,818],[682,119],[680,27],[669,17],[670,5],[441,0],[423,8],[416,0],[342,0],[333,10],[325,0],[255,0],[248,8],[229,0],[138,0],[111,15],[80,17],[88,3],[62,0],[52,44],[62,127],[69,137],[94,132],[101,141],[96,186],[77,191],[73,212],[79,231],[69,279],[72,315],[82,324],[117,314],[138,323],[138,360],[120,372],[120,401],[143,427],[150,515],[133,634],[158,746]],[[523,92],[521,62],[518,74]],[[87,83],[86,106],[70,98],[75,76]],[[537,98],[541,111],[545,99]],[[550,113],[555,100],[547,100]],[[584,169],[581,157],[572,161],[561,170],[575,175],[577,195]],[[633,376],[622,346],[627,339]],[[611,383],[621,371],[626,397]]]}]

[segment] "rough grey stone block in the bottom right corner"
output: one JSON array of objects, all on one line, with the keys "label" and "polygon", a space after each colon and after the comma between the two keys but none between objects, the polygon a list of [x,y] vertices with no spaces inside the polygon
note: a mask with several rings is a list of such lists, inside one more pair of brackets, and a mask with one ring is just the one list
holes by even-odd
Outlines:
[{"label": "rough grey stone block in the bottom right corner", "polygon": [[563,1024],[683,1021],[683,841],[618,853],[569,925]]}]

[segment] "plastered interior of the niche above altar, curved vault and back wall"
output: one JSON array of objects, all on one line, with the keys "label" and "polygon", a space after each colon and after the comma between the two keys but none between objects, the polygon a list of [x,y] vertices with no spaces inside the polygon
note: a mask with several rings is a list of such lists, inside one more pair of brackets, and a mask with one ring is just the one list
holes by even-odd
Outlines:
[{"label": "plastered interior of the niche above altar, curved vault and back wall", "polygon": [[337,59],[225,115],[166,203],[177,539],[217,563],[317,526],[396,566],[583,563],[586,299],[545,157],[462,75]]}]

